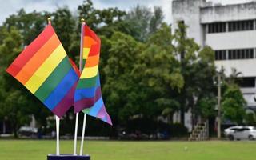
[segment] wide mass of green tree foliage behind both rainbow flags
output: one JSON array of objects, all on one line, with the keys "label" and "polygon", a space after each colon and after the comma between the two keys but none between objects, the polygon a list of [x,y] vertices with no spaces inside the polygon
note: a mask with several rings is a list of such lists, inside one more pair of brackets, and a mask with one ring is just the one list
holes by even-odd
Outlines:
[{"label": "wide mass of green tree foliage behind both rainbow flags", "polygon": [[[172,34],[170,26],[162,23],[158,7],[152,11],[135,6],[126,13],[118,8],[95,9],[90,0],[78,6],[77,13],[71,14],[68,7],[53,13],[19,10],[0,26],[0,71],[4,73],[0,75],[0,119],[10,119],[14,130],[26,125],[32,114],[38,126],[47,126],[46,118],[51,115],[5,72],[22,48],[43,30],[49,16],[66,52],[77,64],[81,30],[77,17],[85,18],[100,36],[102,94],[115,126],[136,117],[156,122],[161,115],[171,122],[175,111],[184,114],[190,107],[194,119],[214,116],[214,52],[187,38],[184,24],[179,23]],[[63,122],[62,130],[72,132],[70,116]]]}]

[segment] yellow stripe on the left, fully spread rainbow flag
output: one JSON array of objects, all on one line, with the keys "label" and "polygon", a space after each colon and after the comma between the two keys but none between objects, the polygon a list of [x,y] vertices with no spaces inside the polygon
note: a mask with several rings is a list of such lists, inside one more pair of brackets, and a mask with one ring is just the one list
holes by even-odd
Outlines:
[{"label": "yellow stripe on the left, fully spread rainbow flag", "polygon": [[65,56],[66,52],[63,46],[59,45],[31,76],[30,80],[26,82],[26,88],[34,94]]}]

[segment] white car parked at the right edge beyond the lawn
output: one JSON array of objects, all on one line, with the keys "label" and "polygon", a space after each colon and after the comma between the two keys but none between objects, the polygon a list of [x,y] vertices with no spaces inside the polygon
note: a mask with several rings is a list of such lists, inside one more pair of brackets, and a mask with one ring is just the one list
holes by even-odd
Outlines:
[{"label": "white car parked at the right edge beyond the lawn", "polygon": [[256,128],[254,126],[231,126],[224,130],[224,133],[230,140],[254,140],[256,138]]}]

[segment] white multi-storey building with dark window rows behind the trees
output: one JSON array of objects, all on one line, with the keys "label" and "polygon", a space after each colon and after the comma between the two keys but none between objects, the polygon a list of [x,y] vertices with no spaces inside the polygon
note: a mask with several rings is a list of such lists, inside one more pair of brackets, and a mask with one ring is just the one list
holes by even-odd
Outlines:
[{"label": "white multi-storey building with dark window rows behind the trees", "polygon": [[[226,75],[235,68],[242,72],[241,90],[248,110],[255,110],[256,80],[256,2],[233,5],[214,4],[206,0],[174,0],[173,29],[182,21],[189,26],[188,37],[215,51],[215,65]],[[186,126],[190,118],[186,116]]]}]

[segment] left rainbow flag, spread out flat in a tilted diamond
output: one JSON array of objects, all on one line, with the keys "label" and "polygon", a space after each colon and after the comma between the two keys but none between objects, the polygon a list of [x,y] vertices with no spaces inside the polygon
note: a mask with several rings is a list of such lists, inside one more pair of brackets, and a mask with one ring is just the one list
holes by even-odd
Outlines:
[{"label": "left rainbow flag, spread out flat in a tilted diamond", "polygon": [[51,25],[46,26],[6,71],[58,117],[74,104],[78,75]]}]

